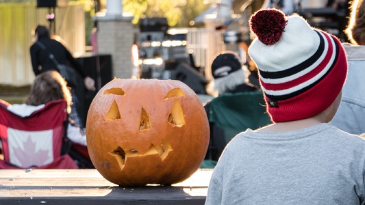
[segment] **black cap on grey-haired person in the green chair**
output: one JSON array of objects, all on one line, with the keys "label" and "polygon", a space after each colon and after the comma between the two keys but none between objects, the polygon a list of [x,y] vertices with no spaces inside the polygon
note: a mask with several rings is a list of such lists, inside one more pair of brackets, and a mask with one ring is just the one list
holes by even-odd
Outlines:
[{"label": "black cap on grey-haired person in the green chair", "polygon": [[242,69],[242,63],[237,53],[224,51],[216,56],[212,62],[212,75],[214,79],[225,77],[231,72]]}]

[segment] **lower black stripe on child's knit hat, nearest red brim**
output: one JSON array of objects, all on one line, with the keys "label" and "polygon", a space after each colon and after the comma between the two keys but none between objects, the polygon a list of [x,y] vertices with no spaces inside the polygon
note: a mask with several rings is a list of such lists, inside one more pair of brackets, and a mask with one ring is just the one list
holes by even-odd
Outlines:
[{"label": "lower black stripe on child's knit hat, nearest red brim", "polygon": [[[329,34],[327,34],[327,35],[329,35]],[[333,38],[333,36],[329,35],[329,38]],[[333,41],[334,41],[333,44],[335,45],[334,49],[336,49],[335,59],[332,61],[331,67],[327,70],[327,72],[323,75],[323,77],[320,77],[320,79],[318,79],[314,83],[308,85],[307,87],[303,87],[301,90],[297,90],[296,92],[292,92],[290,94],[285,94],[285,95],[281,95],[281,96],[273,96],[273,95],[266,94],[266,92],[265,92],[266,97],[268,97],[270,100],[273,100],[273,101],[286,100],[286,99],[292,98],[294,96],[298,96],[299,94],[302,94],[303,92],[306,92],[307,90],[310,90],[319,81],[322,81],[327,76],[327,74],[329,74],[329,72],[331,72],[333,67],[336,65],[336,62],[338,60],[338,55],[340,54],[340,47],[339,47],[338,43],[334,39],[333,39]]]}]

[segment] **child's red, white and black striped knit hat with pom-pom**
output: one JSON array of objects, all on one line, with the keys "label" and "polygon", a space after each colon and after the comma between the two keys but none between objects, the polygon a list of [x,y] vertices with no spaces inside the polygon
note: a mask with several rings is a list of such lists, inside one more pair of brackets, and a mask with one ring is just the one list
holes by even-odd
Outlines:
[{"label": "child's red, white and black striped knit hat with pom-pom", "polygon": [[249,55],[259,70],[271,120],[301,120],[327,109],[347,77],[338,38],[276,9],[255,12],[249,24],[257,37]]}]

